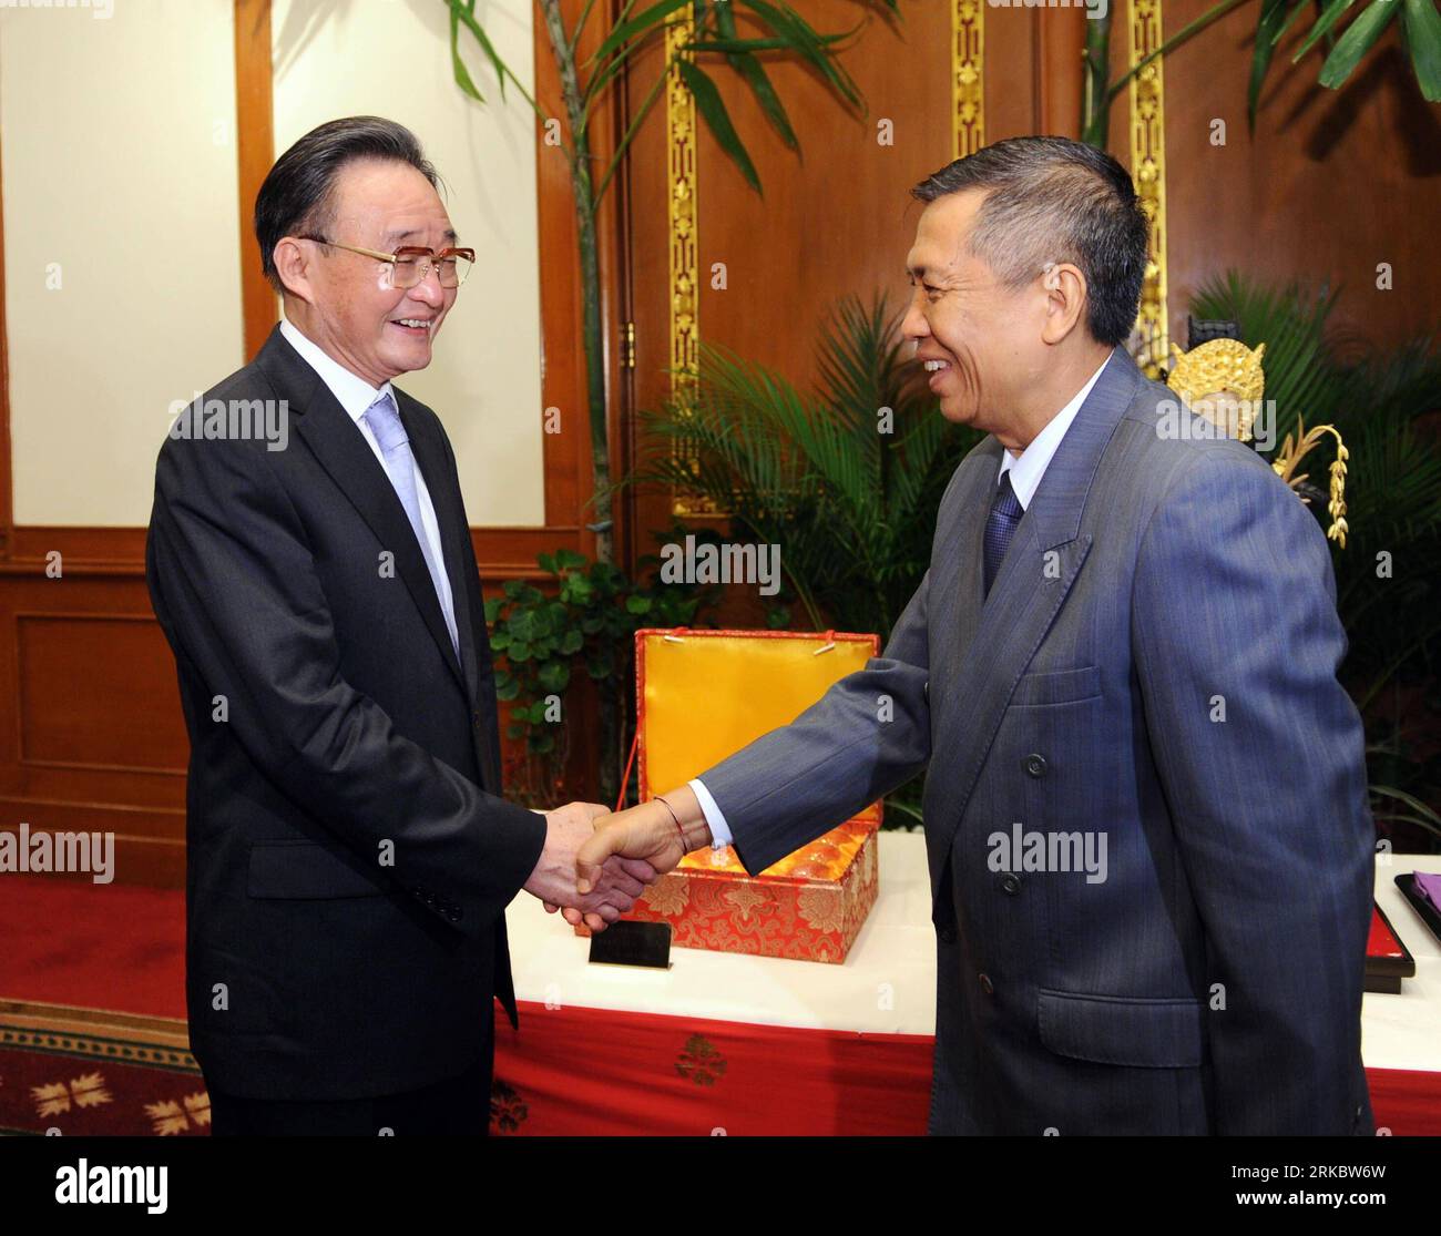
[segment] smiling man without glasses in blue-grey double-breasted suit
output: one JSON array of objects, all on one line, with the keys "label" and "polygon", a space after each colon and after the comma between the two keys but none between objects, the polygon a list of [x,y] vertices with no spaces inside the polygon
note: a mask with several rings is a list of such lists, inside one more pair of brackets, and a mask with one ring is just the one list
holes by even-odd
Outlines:
[{"label": "smiling man without glasses in blue-grey double-breasted suit", "polygon": [[761,872],[928,769],[932,1132],[1370,1132],[1375,834],[1320,527],[1120,347],[1147,225],[1115,160],[1014,138],[914,194],[905,331],[990,434],[929,570],[885,655],[581,863]]}]

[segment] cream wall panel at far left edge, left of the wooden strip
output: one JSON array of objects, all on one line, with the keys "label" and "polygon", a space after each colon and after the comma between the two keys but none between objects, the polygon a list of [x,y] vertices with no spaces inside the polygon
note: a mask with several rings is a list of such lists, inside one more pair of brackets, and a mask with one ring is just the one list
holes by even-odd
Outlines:
[{"label": "cream wall panel at far left edge, left of the wooden strip", "polygon": [[0,9],[19,524],[148,523],[171,400],[244,363],[232,3],[102,12]]}]

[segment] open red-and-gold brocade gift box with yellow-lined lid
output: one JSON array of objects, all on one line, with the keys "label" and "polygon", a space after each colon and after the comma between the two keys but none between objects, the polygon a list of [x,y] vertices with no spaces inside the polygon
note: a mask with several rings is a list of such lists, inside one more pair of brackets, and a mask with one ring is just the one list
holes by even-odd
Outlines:
[{"label": "open red-and-gold brocade gift box with yellow-lined lid", "polygon": [[[875,635],[637,631],[641,800],[790,725],[879,651]],[[759,876],[729,846],[697,850],[627,918],[670,923],[679,948],[843,962],[876,900],[880,812],[873,802]]]}]

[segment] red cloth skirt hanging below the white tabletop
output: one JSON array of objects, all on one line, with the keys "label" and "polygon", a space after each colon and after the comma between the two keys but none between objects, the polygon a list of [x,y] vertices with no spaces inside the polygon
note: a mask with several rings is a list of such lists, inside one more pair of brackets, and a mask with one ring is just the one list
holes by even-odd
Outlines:
[{"label": "red cloth skirt hanging below the white tabletop", "polygon": [[[928,1034],[853,1034],[522,1001],[497,1011],[497,1134],[918,1135]],[[1378,1128],[1441,1135],[1441,1073],[1368,1069]]]}]

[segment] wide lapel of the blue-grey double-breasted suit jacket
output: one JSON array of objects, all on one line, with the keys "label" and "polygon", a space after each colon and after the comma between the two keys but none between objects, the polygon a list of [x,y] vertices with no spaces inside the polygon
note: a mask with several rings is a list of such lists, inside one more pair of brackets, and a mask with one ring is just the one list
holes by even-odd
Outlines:
[{"label": "wide lapel of the blue-grey double-breasted suit jacket", "polygon": [[[1040,480],[989,598],[981,599],[983,536],[996,490],[1001,445],[983,442],[967,460],[974,475],[957,503],[948,543],[951,581],[932,611],[932,676],[953,674],[932,699],[931,768],[944,768],[928,794],[927,851],[931,892],[942,903],[941,877],[965,804],[1000,729],[1016,683],[1046,638],[1091,550],[1081,516],[1107,442],[1141,382],[1120,349],[1091,388]],[[932,579],[934,585],[934,579]],[[953,617],[954,615],[954,617]],[[937,622],[940,618],[940,622]],[[1017,771],[1019,772],[1019,771]],[[928,782],[929,788],[929,782]],[[948,905],[948,896],[944,897]]]}]

